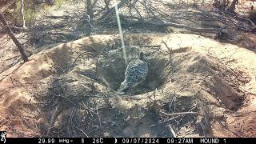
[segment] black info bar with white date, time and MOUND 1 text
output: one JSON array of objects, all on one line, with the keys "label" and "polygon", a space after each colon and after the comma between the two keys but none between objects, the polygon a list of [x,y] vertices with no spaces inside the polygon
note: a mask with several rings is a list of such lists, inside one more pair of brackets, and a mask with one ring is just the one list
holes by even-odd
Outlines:
[{"label": "black info bar with white date, time and MOUND 1 text", "polygon": [[256,138],[5,138],[0,143],[38,143],[38,144],[194,144],[194,143],[255,143]]}]

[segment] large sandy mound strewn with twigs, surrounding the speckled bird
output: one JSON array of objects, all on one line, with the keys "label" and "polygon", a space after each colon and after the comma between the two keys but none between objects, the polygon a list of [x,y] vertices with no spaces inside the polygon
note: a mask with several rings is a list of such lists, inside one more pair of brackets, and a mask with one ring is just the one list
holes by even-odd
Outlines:
[{"label": "large sandy mound strewn with twigs, surrounding the speckled bird", "polygon": [[149,74],[123,96],[115,90],[124,60],[106,55],[120,46],[113,35],[43,50],[0,74],[1,130],[13,137],[255,136],[253,52],[192,34],[130,34],[126,42],[145,53]]}]

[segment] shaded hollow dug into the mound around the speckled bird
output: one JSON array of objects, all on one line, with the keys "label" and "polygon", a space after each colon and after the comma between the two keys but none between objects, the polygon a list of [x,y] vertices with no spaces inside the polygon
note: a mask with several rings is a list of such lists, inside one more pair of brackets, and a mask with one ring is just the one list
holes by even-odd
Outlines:
[{"label": "shaded hollow dug into the mound around the speckled bird", "polygon": [[[127,94],[143,94],[160,88],[166,81],[167,74],[170,73],[168,68],[169,54],[161,52],[159,47],[126,46],[127,62],[138,58],[140,52],[143,52],[146,57],[149,67],[148,74],[144,82],[134,87]],[[126,71],[122,49],[109,50],[105,54],[98,59],[97,74],[106,86],[118,90],[121,82],[124,81]]]}]

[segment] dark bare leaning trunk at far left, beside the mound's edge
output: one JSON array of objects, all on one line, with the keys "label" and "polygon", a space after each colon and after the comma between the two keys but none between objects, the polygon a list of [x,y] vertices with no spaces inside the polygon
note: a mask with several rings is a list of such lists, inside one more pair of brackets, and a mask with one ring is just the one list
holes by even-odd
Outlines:
[{"label": "dark bare leaning trunk at far left, beside the mound's edge", "polygon": [[2,22],[3,26],[6,28],[6,32],[10,35],[10,38],[14,41],[15,45],[18,47],[19,52],[22,54],[22,58],[24,62],[28,62],[29,58],[26,56],[25,48],[22,46],[20,42],[18,42],[18,39],[14,36],[14,33],[12,30],[10,30],[10,27],[8,26],[6,19],[4,18],[3,14],[0,13],[0,22]]}]

